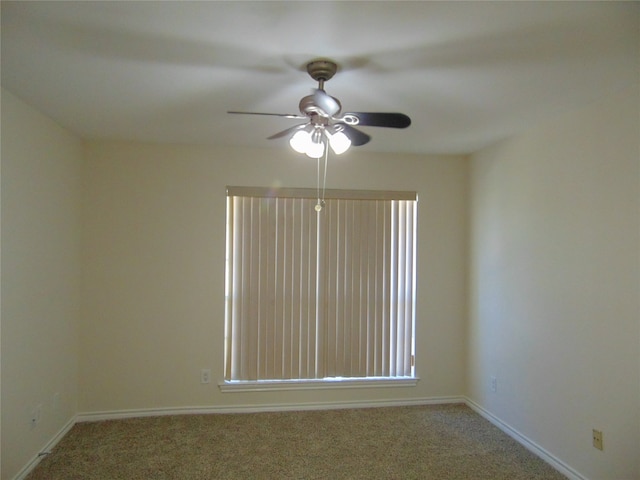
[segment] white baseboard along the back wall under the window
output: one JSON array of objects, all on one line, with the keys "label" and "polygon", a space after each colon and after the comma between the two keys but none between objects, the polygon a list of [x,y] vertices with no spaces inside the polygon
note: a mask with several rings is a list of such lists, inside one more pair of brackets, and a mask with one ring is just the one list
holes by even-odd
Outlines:
[{"label": "white baseboard along the back wall under the window", "polygon": [[353,402],[315,402],[315,403],[279,403],[279,404],[246,404],[206,407],[179,408],[144,408],[137,410],[115,410],[103,412],[79,413],[77,422],[98,422],[101,420],[117,420],[123,418],[154,417],[163,415],[190,415],[212,413],[259,413],[287,412],[301,410],[337,410],[344,408],[404,407],[411,405],[437,405],[445,403],[465,403],[462,396],[428,397],[410,400],[374,400]]}]

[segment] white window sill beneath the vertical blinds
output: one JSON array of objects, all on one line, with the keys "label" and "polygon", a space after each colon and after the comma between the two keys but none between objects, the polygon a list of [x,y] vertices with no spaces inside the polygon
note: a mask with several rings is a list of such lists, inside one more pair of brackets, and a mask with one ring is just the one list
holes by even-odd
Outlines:
[{"label": "white window sill beneath the vertical blinds", "polygon": [[333,388],[415,387],[418,377],[323,378],[319,380],[223,381],[220,391],[268,392],[282,390],[326,390]]}]

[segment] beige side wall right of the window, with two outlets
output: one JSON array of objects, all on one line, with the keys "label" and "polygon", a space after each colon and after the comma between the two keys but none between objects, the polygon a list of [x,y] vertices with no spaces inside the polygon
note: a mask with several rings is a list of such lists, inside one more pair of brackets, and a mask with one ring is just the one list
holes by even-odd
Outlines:
[{"label": "beige side wall right of the window, with two outlets", "polygon": [[592,480],[640,478],[639,105],[635,87],[471,163],[470,397]]}]

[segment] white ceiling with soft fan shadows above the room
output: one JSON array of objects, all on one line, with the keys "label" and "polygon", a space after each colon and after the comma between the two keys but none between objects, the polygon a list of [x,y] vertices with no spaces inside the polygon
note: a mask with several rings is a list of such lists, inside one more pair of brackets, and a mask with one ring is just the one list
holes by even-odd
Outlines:
[{"label": "white ceiling with soft fan shadows above the room", "polygon": [[85,138],[284,148],[316,57],[360,149],[469,153],[638,82],[640,2],[2,0],[2,86]]}]

